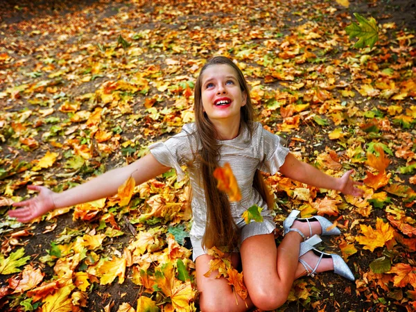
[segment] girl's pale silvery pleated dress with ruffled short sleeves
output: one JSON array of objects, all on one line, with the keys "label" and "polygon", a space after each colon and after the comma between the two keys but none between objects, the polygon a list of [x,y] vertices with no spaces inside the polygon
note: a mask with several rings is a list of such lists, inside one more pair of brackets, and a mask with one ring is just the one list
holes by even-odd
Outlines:
[{"label": "girl's pale silvery pleated dress with ruffled short sleeves", "polygon": [[[252,183],[257,169],[275,174],[284,164],[289,150],[282,143],[283,140],[279,136],[263,129],[260,123],[253,124],[252,135],[247,127],[242,127],[238,137],[231,140],[218,140],[220,144],[218,164],[224,166],[225,163],[229,163],[241,190],[241,201],[230,202],[234,221],[241,229],[240,243],[250,236],[270,234],[275,230],[276,225],[270,215],[270,210],[257,190],[252,187]],[[190,236],[194,261],[200,255],[207,253],[201,245],[207,223],[207,205],[200,175],[200,164],[196,160],[198,157],[194,156],[200,149],[201,144],[195,123],[184,125],[182,131],[170,139],[149,146],[150,153],[158,162],[175,168],[177,180],[182,180],[185,176],[182,166],[191,164],[188,166],[188,173],[193,192],[191,201],[193,224]],[[261,211],[263,222],[252,221],[245,224],[242,214],[252,205],[263,207]]]}]

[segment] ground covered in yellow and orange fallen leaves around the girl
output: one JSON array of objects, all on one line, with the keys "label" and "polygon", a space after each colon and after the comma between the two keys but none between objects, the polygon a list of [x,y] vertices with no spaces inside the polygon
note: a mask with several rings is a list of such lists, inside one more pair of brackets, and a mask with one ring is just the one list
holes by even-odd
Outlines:
[{"label": "ground covered in yellow and orange fallen leaves around the girl", "polygon": [[[364,183],[356,199],[268,177],[280,232],[291,209],[336,220],[342,234],[323,246],[356,277],[299,279],[279,311],[414,311],[415,6],[338,2],[2,2],[1,311],[198,310],[189,188],[174,171],[128,205],[120,193],[29,225],[6,212],[33,196],[28,184],[63,191],[178,132],[218,54],[243,69],[259,119],[295,155]],[[353,48],[352,12],[378,22],[374,49]]]}]

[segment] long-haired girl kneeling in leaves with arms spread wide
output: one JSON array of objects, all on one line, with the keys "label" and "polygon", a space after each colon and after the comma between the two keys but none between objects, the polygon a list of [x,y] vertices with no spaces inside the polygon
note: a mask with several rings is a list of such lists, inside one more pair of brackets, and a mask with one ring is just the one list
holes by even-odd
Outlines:
[{"label": "long-haired girl kneeling in leaves with arms spread wide", "polygon": [[[254,123],[248,85],[239,67],[228,58],[212,58],[202,67],[195,85],[195,115],[196,123],[184,125],[180,134],[164,143],[153,144],[148,155],[128,166],[62,193],[53,193],[46,187],[28,187],[39,191],[39,196],[15,203],[21,208],[10,211],[9,215],[27,222],[51,209],[112,196],[130,176],[138,185],[169,168],[175,168],[180,180],[184,176],[181,166],[187,164],[193,189],[190,235],[201,311],[247,311],[253,306],[276,309],[286,302],[293,280],[306,272],[335,270],[354,280],[339,256],[313,250],[313,243],[319,240],[317,236],[302,243],[306,236],[340,234],[336,228],[327,231],[331,223],[325,218],[301,220],[293,211],[284,222],[286,235],[276,248],[273,234],[276,225],[267,209],[272,200],[259,173],[280,171],[315,187],[361,196],[363,192],[354,187],[358,183],[349,178],[352,171],[338,179],[330,177],[298,161],[281,146],[279,137]],[[229,202],[227,195],[216,188],[213,171],[226,162],[239,183],[240,202]],[[252,205],[265,208],[263,222],[246,225],[241,214]],[[241,261],[249,294],[248,308],[240,297],[236,302],[226,279],[216,279],[216,272],[204,276],[211,260],[207,249],[214,245],[232,251],[235,267]]]}]

